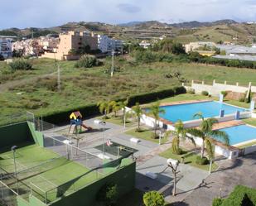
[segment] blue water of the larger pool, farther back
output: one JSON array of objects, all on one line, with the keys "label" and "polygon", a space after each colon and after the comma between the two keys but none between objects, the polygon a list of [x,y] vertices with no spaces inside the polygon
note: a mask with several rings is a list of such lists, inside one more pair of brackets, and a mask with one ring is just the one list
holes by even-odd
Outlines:
[{"label": "blue water of the larger pool, farther back", "polygon": [[236,111],[244,112],[244,108],[237,108],[225,103],[205,102],[205,103],[186,103],[171,106],[163,106],[166,113],[160,114],[160,117],[171,122],[181,120],[183,122],[193,120],[195,113],[203,113],[204,117],[216,117],[220,115],[220,110],[225,110],[226,114],[236,113]]}]

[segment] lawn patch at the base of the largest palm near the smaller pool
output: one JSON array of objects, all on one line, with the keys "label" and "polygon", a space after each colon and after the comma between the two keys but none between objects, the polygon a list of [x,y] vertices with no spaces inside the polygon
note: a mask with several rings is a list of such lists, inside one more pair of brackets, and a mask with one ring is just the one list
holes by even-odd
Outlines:
[{"label": "lawn patch at the base of the largest palm near the smaller pool", "polygon": [[[181,148],[183,151],[183,154],[181,156],[184,156],[184,163],[191,165],[191,166],[195,166],[198,167],[202,170],[209,170],[209,165],[198,165],[196,164],[196,155],[193,152],[190,151],[186,151],[184,148]],[[179,160],[181,161],[181,156],[178,156],[176,154],[173,154],[172,149],[168,149],[167,151],[163,151],[159,156],[165,157],[165,158],[171,158],[174,160]],[[216,170],[218,168],[218,165],[216,165],[215,163],[212,165],[212,170]]]}]

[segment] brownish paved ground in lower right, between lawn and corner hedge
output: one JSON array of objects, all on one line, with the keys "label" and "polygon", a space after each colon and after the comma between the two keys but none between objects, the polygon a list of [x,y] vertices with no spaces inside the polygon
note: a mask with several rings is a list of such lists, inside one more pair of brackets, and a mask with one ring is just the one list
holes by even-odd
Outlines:
[{"label": "brownish paved ground in lower right, between lawn and corner hedge", "polygon": [[256,152],[237,160],[220,160],[220,168],[206,179],[204,187],[188,195],[182,204],[210,206],[215,197],[226,198],[235,185],[243,184],[256,188]]}]

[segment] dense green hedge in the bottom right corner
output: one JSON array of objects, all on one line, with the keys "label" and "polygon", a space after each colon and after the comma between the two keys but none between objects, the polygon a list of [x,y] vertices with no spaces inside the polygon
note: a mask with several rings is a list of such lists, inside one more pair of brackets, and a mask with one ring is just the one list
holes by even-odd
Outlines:
[{"label": "dense green hedge in the bottom right corner", "polygon": [[245,194],[248,196],[249,201],[256,205],[256,189],[237,185],[234,191],[229,194],[229,198],[224,199],[221,206],[242,206]]}]

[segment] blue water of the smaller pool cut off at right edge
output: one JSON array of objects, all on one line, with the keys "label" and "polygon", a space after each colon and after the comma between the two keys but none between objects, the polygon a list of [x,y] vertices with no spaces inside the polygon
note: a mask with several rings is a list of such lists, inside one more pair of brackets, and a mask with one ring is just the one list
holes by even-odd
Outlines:
[{"label": "blue water of the smaller pool cut off at right edge", "polygon": [[236,145],[243,141],[256,140],[256,128],[247,125],[239,125],[220,129],[229,135],[229,144]]}]

